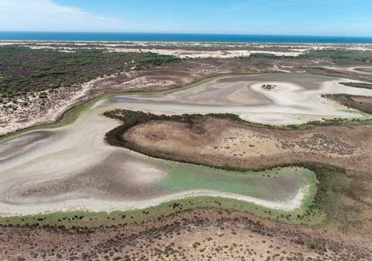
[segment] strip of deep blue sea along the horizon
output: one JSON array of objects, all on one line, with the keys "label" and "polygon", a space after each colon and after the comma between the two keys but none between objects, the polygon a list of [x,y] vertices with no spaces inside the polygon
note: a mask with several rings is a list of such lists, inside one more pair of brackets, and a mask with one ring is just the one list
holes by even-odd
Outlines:
[{"label": "strip of deep blue sea along the horizon", "polygon": [[154,41],[154,42],[263,42],[263,43],[371,43],[372,37],[99,32],[5,32],[0,40],[38,41]]}]

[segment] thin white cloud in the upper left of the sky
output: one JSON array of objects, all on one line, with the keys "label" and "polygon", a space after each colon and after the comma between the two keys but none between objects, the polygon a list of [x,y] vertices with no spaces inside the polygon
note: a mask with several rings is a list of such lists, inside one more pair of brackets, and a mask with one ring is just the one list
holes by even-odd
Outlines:
[{"label": "thin white cloud in the upper left of the sky", "polygon": [[0,0],[0,30],[113,31],[129,25],[52,0]]}]

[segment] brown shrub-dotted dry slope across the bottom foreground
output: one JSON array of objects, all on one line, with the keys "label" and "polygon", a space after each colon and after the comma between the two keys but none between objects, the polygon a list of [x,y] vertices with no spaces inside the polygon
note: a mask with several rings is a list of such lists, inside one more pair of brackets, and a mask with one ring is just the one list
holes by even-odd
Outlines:
[{"label": "brown shrub-dotted dry slope across the bottom foreground", "polygon": [[2,226],[0,259],[371,260],[358,235],[293,227],[221,210],[194,210],[145,224],[85,228]]}]

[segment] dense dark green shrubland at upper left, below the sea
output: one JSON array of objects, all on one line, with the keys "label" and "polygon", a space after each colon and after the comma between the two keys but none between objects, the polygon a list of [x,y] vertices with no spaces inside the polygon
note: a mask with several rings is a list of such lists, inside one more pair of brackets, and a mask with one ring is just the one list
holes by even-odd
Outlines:
[{"label": "dense dark green shrubland at upper left, below the sea", "polygon": [[78,86],[99,76],[180,60],[151,52],[119,53],[102,49],[61,52],[5,45],[0,47],[0,96],[12,98],[61,86]]}]

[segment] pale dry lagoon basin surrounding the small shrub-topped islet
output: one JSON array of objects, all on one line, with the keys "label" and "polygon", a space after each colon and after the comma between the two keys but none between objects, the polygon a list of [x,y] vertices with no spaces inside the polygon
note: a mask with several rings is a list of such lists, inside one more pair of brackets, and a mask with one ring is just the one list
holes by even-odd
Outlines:
[{"label": "pale dry lagoon basin surrounding the small shrub-topped islet", "polygon": [[[116,96],[125,108],[155,114],[233,113],[243,120],[270,124],[302,124],[333,118],[361,118],[321,94],[372,95],[372,90],[346,87],[346,79],[302,74],[225,77],[170,94]],[[276,85],[264,90],[262,85]]]}]

